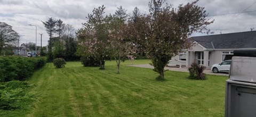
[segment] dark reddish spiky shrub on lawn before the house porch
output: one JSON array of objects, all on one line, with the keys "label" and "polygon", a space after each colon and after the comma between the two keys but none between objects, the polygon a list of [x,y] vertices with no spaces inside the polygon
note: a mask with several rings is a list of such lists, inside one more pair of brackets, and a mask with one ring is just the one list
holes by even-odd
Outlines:
[{"label": "dark reddish spiky shrub on lawn before the house porch", "polygon": [[199,65],[197,63],[192,63],[191,67],[188,68],[189,71],[189,77],[195,78],[198,80],[205,80],[205,73],[203,73],[205,70],[205,66]]}]

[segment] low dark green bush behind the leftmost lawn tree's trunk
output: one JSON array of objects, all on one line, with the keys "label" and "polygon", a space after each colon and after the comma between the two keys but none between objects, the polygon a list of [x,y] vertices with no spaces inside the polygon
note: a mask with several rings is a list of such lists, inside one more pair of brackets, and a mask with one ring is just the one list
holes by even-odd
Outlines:
[{"label": "low dark green bush behind the leftmost lawn tree's trunk", "polygon": [[94,59],[93,57],[81,57],[81,63],[84,66],[100,66],[100,61],[98,59]]}]

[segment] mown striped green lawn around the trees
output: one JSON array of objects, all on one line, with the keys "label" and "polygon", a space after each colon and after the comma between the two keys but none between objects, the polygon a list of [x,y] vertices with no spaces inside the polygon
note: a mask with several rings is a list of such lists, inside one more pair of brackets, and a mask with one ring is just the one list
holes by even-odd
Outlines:
[{"label": "mown striped green lawn around the trees", "polygon": [[[149,63],[138,60],[134,64]],[[130,64],[126,61],[123,64]],[[185,72],[165,72],[166,81],[156,81],[152,69],[121,66],[115,61],[106,70],[68,62],[55,69],[52,63],[34,73],[30,91],[41,94],[34,107],[0,111],[0,116],[223,116],[225,76],[207,75],[191,80]]]}]

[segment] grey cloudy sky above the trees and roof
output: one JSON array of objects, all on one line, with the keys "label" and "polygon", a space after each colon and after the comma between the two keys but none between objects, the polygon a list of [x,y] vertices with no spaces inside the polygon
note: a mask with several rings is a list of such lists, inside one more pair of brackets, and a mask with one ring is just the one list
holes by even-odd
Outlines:
[{"label": "grey cloudy sky above the trees and roof", "polygon": [[[71,24],[75,29],[82,27],[86,22],[86,16],[94,7],[106,6],[106,13],[115,13],[118,6],[123,6],[127,13],[132,13],[135,6],[141,13],[148,12],[150,0],[0,0],[0,22],[6,22],[21,35],[21,44],[35,43],[35,27],[37,26],[37,45],[40,45],[40,35],[43,34],[43,46],[47,45],[49,39],[43,23],[49,18],[61,19]],[[177,7],[191,0],[167,0],[167,3]],[[209,18],[214,23],[208,28],[214,34],[256,30],[256,1],[255,0],[200,0],[197,5],[205,7]],[[245,13],[239,13],[245,12]],[[236,13],[236,14],[233,14]],[[226,15],[219,15],[226,14]],[[193,36],[205,35],[194,34]]]}]

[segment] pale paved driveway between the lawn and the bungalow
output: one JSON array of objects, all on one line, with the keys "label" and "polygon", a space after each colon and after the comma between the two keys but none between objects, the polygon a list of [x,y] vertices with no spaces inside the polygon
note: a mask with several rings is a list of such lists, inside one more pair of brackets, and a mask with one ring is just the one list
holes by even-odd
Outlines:
[{"label": "pale paved driveway between the lawn and the bungalow", "polygon": [[[129,66],[136,66],[140,68],[151,68],[153,69],[154,66],[151,66],[150,64],[133,64]],[[187,68],[170,68],[170,67],[165,67],[165,70],[170,70],[170,71],[182,71],[182,72],[189,72]],[[211,70],[204,70],[205,74],[213,74],[213,75],[220,75],[220,76],[228,76],[228,73],[213,73]]]}]

